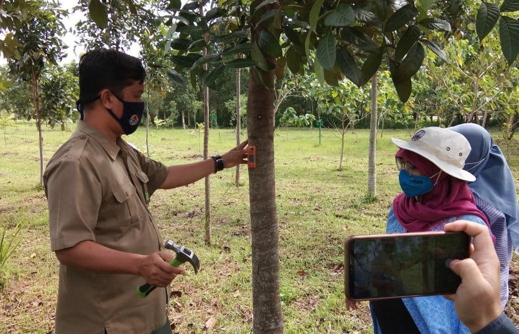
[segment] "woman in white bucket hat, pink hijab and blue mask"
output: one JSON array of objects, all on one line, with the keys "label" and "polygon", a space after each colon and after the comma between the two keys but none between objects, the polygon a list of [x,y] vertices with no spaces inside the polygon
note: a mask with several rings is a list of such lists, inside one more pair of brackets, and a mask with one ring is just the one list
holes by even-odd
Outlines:
[{"label": "woman in white bucket hat, pink hijab and blue mask", "polygon": [[[389,210],[386,233],[443,231],[444,225],[468,220],[488,227],[466,182],[475,177],[463,170],[471,151],[462,135],[440,127],[418,130],[408,141],[392,138],[402,193]],[[443,296],[410,297],[370,302],[374,332],[470,333]]]}]

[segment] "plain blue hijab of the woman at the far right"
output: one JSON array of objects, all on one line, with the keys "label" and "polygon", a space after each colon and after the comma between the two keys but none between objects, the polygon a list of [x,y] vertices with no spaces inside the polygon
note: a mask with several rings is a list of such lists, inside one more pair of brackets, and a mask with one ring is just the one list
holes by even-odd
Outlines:
[{"label": "plain blue hijab of the woman at the far right", "polygon": [[469,182],[470,190],[488,204],[506,215],[507,227],[515,250],[519,246],[519,207],[515,181],[506,158],[499,146],[493,143],[487,130],[474,123],[449,127],[467,138],[472,150],[463,169],[476,180]]}]

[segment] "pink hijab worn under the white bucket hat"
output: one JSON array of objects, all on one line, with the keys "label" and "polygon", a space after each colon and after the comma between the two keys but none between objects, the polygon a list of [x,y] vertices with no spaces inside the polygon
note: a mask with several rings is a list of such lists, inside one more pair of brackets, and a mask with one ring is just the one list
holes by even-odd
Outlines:
[{"label": "pink hijab worn under the white bucket hat", "polygon": [[488,220],[480,211],[474,201],[467,182],[452,177],[442,171],[428,159],[414,152],[400,149],[395,157],[402,158],[436,183],[427,194],[415,197],[407,197],[401,193],[393,200],[393,211],[399,223],[409,232],[422,232],[432,230],[433,227],[448,217],[472,214],[480,217],[487,226]]}]

